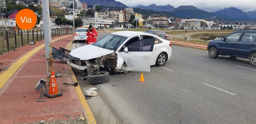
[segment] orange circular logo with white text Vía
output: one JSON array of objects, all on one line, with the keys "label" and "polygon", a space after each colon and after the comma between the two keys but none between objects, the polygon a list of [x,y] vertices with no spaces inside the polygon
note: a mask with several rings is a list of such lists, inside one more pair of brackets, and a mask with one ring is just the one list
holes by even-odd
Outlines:
[{"label": "orange circular logo with white text V\u00eda", "polygon": [[16,24],[23,30],[33,28],[36,21],[36,14],[30,9],[22,9],[16,15]]}]

